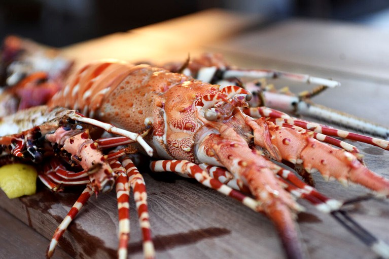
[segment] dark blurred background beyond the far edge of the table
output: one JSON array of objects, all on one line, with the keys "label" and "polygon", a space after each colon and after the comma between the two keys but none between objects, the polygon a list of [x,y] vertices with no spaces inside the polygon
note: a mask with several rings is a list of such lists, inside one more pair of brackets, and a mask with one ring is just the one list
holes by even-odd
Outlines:
[{"label": "dark blurred background beyond the far edge of the table", "polygon": [[268,22],[310,17],[389,29],[387,0],[0,0],[0,39],[16,34],[63,47],[208,8],[257,13]]}]

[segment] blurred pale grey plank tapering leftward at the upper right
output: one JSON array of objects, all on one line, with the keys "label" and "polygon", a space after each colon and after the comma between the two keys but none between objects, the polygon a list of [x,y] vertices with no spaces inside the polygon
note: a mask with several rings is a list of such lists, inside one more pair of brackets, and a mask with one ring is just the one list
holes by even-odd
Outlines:
[{"label": "blurred pale grey plank tapering leftward at the upper right", "polygon": [[389,32],[355,24],[287,20],[214,42],[219,51],[389,79]]}]

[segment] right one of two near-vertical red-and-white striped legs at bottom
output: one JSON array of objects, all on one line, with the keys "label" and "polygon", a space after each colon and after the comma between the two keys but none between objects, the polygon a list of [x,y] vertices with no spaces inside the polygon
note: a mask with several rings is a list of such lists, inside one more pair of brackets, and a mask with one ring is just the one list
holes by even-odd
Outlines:
[{"label": "right one of two near-vertical red-and-white striped legs at bottom", "polygon": [[155,257],[155,249],[150,230],[146,183],[143,179],[143,176],[140,175],[138,169],[128,156],[123,158],[122,164],[126,170],[128,183],[131,186],[134,194],[136,209],[138,211],[139,225],[140,228],[142,228],[143,234],[144,256],[147,259],[152,259]]}]

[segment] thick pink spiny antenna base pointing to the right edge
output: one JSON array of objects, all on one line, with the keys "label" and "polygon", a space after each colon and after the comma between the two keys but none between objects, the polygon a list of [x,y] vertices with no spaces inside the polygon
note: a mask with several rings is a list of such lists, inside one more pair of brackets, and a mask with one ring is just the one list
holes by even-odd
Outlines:
[{"label": "thick pink spiny antenna base pointing to the right edge", "polygon": [[291,128],[277,126],[265,118],[246,117],[245,120],[254,130],[254,143],[265,148],[273,158],[302,164],[308,172],[319,170],[325,179],[335,177],[344,185],[350,180],[379,195],[389,195],[389,181],[365,167],[354,154]]}]

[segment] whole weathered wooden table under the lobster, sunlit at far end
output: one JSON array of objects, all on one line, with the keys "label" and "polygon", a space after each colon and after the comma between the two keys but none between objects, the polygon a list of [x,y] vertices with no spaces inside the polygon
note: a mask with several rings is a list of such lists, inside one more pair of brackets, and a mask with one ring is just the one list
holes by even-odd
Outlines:
[{"label": "whole weathered wooden table under the lobster, sunlit at far end", "polygon": [[[389,126],[389,42],[387,32],[335,22],[289,20],[254,27],[255,17],[210,10],[188,17],[117,33],[63,49],[81,65],[93,59],[183,60],[203,51],[223,53],[232,63],[334,78],[342,83],[315,98],[316,103]],[[306,85],[279,81],[299,92]],[[389,177],[389,152],[356,144],[368,166]],[[271,222],[215,191],[172,174],[145,174],[151,225],[159,258],[281,258],[282,248]],[[366,193],[344,189],[315,176],[321,192],[338,199]],[[0,192],[0,257],[43,257],[54,229],[81,190],[51,193],[42,188],[29,197],[9,200]],[[298,218],[301,242],[310,258],[376,258],[330,215],[301,201],[307,211]],[[6,210],[8,212],[6,212]],[[11,216],[11,214],[13,216]],[[350,207],[350,214],[377,237],[389,243],[387,201],[370,200]],[[131,203],[131,215],[135,215]],[[26,223],[24,225],[20,221]],[[6,223],[5,223],[6,222]],[[12,224],[12,227],[10,226]],[[15,226],[15,227],[14,227]],[[15,231],[14,229],[18,229]],[[31,232],[31,229],[37,233]],[[110,258],[117,249],[115,194],[92,198],[72,223],[54,258]],[[46,237],[47,239],[45,239]],[[13,245],[20,243],[20,247]],[[5,251],[5,252],[4,252]],[[29,251],[33,253],[29,254]],[[66,255],[66,253],[68,255]],[[6,255],[4,255],[6,254]],[[140,232],[131,217],[131,258],[142,258]],[[33,256],[34,257],[34,256]]]}]

